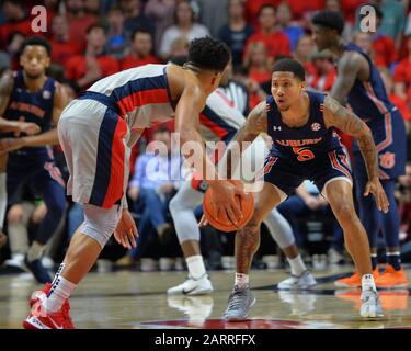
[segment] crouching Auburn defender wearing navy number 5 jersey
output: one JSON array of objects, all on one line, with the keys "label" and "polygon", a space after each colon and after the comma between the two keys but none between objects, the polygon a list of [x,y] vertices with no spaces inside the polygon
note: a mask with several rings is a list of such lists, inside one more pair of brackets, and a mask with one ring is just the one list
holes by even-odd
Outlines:
[{"label": "crouching Auburn defender wearing navy number 5 jersey", "polygon": [[[239,143],[237,145],[242,149],[243,141],[252,141],[265,132],[272,137],[273,146],[265,160],[264,185],[256,193],[254,214],[236,235],[236,282],[225,318],[247,318],[249,308],[255,303],[250,291],[249,271],[260,244],[261,222],[305,179],[315,182],[343,228],[347,250],[362,278],[361,316],[381,316],[367,236],[354,208],[347,155],[333,127],[358,140],[368,172],[363,191],[365,195],[372,193],[376,206],[386,213],[388,200],[378,179],[372,133],[365,122],[331,97],[306,91],[304,67],[294,59],[282,59],[274,65],[271,91],[272,95],[251,111],[231,141],[235,146]],[[227,155],[231,147],[228,146]],[[229,168],[236,162],[228,163]]]}]

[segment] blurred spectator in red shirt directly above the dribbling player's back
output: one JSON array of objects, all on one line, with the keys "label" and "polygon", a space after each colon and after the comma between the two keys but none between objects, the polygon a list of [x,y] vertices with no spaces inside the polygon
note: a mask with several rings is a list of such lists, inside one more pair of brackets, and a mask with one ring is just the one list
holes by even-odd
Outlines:
[{"label": "blurred spectator in red shirt directly above the dribbling player's back", "polygon": [[121,61],[122,70],[147,64],[159,64],[152,55],[152,35],[146,30],[137,30],[132,36],[132,50]]}]

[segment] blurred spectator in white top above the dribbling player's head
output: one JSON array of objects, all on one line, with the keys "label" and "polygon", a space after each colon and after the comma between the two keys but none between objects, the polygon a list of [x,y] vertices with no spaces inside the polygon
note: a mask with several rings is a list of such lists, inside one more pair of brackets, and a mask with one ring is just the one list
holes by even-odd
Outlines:
[{"label": "blurred spectator in white top above the dribbling player's head", "polygon": [[208,29],[195,22],[195,14],[189,1],[181,1],[175,8],[175,23],[165,30],[160,45],[160,56],[167,60],[171,55],[171,44],[185,36],[189,43],[209,35]]}]

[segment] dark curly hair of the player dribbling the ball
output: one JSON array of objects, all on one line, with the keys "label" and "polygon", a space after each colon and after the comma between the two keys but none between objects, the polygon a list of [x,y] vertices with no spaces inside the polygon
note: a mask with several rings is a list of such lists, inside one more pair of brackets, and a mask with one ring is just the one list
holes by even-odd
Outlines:
[{"label": "dark curly hair of the player dribbling the ball", "polygon": [[222,71],[231,59],[228,46],[210,36],[192,41],[189,46],[189,61],[201,68]]}]

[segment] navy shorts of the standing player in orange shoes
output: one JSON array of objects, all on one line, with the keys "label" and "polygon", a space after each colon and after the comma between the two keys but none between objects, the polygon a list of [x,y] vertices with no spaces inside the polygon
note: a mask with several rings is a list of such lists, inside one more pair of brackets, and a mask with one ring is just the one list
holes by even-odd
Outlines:
[{"label": "navy shorts of the standing player in orange shoes", "polygon": [[[398,110],[367,123],[378,151],[379,179],[396,179],[406,174],[407,136],[401,113]],[[355,178],[368,178],[358,143],[353,145]]]}]

